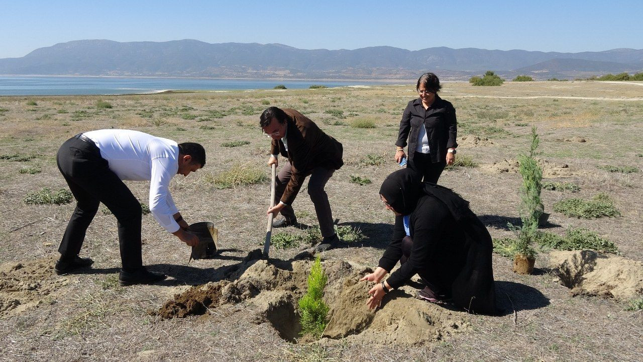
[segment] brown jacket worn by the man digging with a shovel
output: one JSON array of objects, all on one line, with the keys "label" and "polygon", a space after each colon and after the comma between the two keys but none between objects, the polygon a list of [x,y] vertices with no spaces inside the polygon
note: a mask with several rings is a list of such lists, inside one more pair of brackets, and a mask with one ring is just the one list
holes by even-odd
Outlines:
[{"label": "brown jacket worn by the man digging with a shovel", "polygon": [[270,153],[288,158],[293,166],[293,175],[285,187],[281,201],[284,204],[292,205],[294,198],[302,188],[303,180],[311,175],[315,167],[327,169],[340,169],[344,162],[341,160],[343,148],[335,138],[324,133],[312,120],[302,113],[288,108],[282,109],[289,120],[287,120],[286,141],[288,151],[285,150],[282,140],[272,140]]}]

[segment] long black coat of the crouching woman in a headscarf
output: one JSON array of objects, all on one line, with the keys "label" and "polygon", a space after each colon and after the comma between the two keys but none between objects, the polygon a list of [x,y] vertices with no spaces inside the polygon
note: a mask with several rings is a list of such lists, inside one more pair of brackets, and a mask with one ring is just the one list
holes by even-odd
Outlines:
[{"label": "long black coat of the crouching woman in a headscarf", "polygon": [[[390,271],[402,256],[403,218],[395,220],[394,237],[379,262]],[[446,187],[424,184],[410,214],[413,249],[408,262],[386,280],[399,287],[414,274],[450,291],[453,302],[469,312],[496,313],[491,235],[469,209],[469,202]]]}]

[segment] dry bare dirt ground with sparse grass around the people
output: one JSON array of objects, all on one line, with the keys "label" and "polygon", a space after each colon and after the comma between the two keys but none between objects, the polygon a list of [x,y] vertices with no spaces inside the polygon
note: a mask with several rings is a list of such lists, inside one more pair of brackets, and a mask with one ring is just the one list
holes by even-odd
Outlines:
[{"label": "dry bare dirt ground with sparse grass around the people", "polygon": [[[440,95],[457,109],[458,157],[478,164],[445,171],[440,184],[469,200],[494,238],[513,235],[506,225],[518,218],[521,182],[513,160],[527,149],[529,127],[535,124],[541,164],[552,171],[547,180],[580,187],[573,194],[543,191],[545,209],[552,213],[546,231],[587,227],[616,243],[618,258],[628,260],[622,270],[633,278],[640,275],[636,267],[628,269],[643,262],[640,87],[631,82],[500,87],[455,82],[444,84]],[[414,97],[408,85],[0,98],[0,154],[5,156],[0,159],[0,361],[643,361],[643,312],[626,310],[627,299],[570,291],[544,250],[531,276],[514,274],[512,261],[494,254],[500,316],[415,300],[417,283],[390,294],[374,314],[368,312],[368,285],[357,279],[377,265],[390,238],[393,216],[383,209],[377,190],[398,169],[393,160],[397,127]],[[97,108],[99,99],[113,107]],[[269,141],[258,127],[258,115],[268,106],[302,111],[343,143],[345,166],[326,189],[338,224],[360,227],[366,236],[358,245],[323,254],[331,324],[321,341],[294,343],[298,326],[290,322],[296,320],[296,299],[305,291],[310,263],[293,257],[308,245],[272,249],[269,264],[247,257],[265,236],[269,183],[217,189],[211,182],[235,164],[268,175]],[[376,127],[355,128],[357,121]],[[93,268],[67,276],[53,273],[73,203],[26,205],[23,199],[42,187],[66,188],[55,163],[57,149],[76,133],[100,128],[137,129],[204,145],[206,166],[187,178],[176,176],[172,195],[189,223],[211,221],[219,227],[219,256],[188,264],[188,247],[151,215],[143,216],[143,260],[170,278],[159,285],[119,287],[116,222],[102,206],[81,253],[95,260]],[[222,146],[239,140],[249,144]],[[368,164],[377,162],[364,162],[367,155],[383,162]],[[610,173],[599,166],[639,171]],[[350,176],[372,184],[359,186]],[[147,204],[149,184],[128,185]],[[620,216],[584,220],[552,210],[559,200],[600,192],[610,195]],[[300,222],[316,224],[305,187],[294,206]],[[557,258],[552,256],[552,265]],[[196,312],[181,309],[182,296],[202,301],[193,303]]]}]

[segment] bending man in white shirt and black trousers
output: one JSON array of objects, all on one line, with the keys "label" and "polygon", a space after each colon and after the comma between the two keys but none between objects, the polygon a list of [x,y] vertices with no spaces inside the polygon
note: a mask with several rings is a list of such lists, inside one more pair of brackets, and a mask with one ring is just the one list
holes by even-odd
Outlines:
[{"label": "bending man in white shirt and black trousers", "polygon": [[100,129],[69,138],[58,151],[57,163],[77,200],[62,237],[57,274],[67,274],[93,263],[78,253],[87,227],[100,202],[118,220],[122,271],[120,285],[154,283],[166,278],[143,267],[141,256],[141,204],[122,180],[150,180],[150,211],[159,224],[187,245],[199,242],[174,205],[168,189],[172,176],[187,176],[205,164],[203,146],[177,144],[129,129]]}]

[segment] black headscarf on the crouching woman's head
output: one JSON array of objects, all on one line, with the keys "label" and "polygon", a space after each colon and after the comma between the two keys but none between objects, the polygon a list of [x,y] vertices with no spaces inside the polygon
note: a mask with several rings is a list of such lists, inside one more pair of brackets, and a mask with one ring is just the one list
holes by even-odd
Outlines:
[{"label": "black headscarf on the crouching woman's head", "polygon": [[386,204],[393,207],[395,211],[408,215],[415,210],[417,200],[424,193],[421,176],[409,168],[399,169],[386,176],[382,186],[379,188],[379,195],[386,198]]}]

